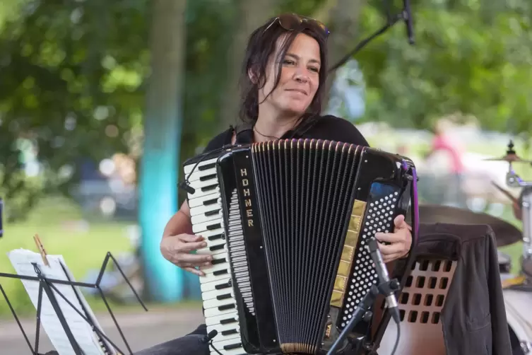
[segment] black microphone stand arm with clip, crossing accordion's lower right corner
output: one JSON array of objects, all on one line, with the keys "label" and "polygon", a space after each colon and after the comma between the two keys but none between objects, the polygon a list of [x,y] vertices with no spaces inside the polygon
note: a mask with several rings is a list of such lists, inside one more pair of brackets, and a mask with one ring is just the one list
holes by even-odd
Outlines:
[{"label": "black microphone stand arm with clip, crossing accordion's lower right corner", "polygon": [[351,320],[348,322],[348,325],[343,328],[343,331],[341,332],[338,339],[336,339],[336,342],[334,342],[331,349],[329,349],[327,355],[338,354],[338,348],[341,346],[341,344],[343,344],[343,341],[351,332],[351,330],[353,330],[353,328],[358,323],[360,323],[360,321],[362,321],[366,315],[371,316],[370,308],[372,307],[373,303],[375,303],[375,299],[379,294],[387,296],[390,293],[395,293],[399,289],[399,286],[400,285],[397,279],[384,281],[378,286],[373,285],[370,291],[368,291],[364,298],[362,298],[362,301],[358,303],[357,308],[355,309],[355,312],[351,317]]}]

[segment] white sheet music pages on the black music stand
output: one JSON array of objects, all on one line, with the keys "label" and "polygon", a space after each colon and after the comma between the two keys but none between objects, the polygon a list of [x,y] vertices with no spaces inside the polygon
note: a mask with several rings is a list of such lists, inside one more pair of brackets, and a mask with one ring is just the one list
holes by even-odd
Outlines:
[{"label": "white sheet music pages on the black music stand", "polygon": [[[30,250],[12,250],[11,252],[8,252],[8,257],[11,261],[11,264],[13,264],[13,267],[15,268],[17,274],[19,275],[36,277],[37,274],[35,273],[35,268],[32,265],[32,263],[36,263],[42,274],[45,275],[47,279],[57,279],[62,281],[69,281],[70,279],[70,281],[75,281],[72,274],[69,272],[69,269],[66,267],[66,262],[64,261],[62,255],[47,255],[49,266],[46,266],[44,264],[44,262],[42,261],[42,257],[39,253],[32,252]],[[63,267],[61,267],[61,264],[63,265],[64,269]],[[31,280],[21,281],[25,287],[26,292],[28,292],[28,296],[30,296],[33,305],[35,306],[35,309],[37,309],[37,301],[39,298],[39,282]],[[88,303],[85,301],[85,297],[78,289],[78,287],[72,287],[70,285],[64,284],[53,285],[66,299],[69,300],[69,302],[74,307],[76,307],[76,309],[83,316],[92,320],[95,324],[95,327],[97,327],[97,329],[100,330],[102,334],[105,334],[105,332],[102,331],[102,327],[100,327],[100,324],[97,323],[97,320],[92,310],[90,310]],[[63,297],[57,294],[56,291],[53,292],[57,303],[59,304],[59,307],[61,308],[61,311],[64,315],[64,318],[66,319],[66,322],[69,325],[73,337],[74,339],[76,339],[76,342],[83,351],[83,354],[105,355],[106,351],[105,349],[102,349],[102,346],[97,338],[97,334],[93,332],[89,323],[86,322],[83,318],[81,318],[81,316],[76,312],[76,310],[74,310],[72,306],[69,305],[69,303],[66,303]],[[76,296],[76,293],[78,296]],[[85,315],[85,311],[81,307],[78,298],[81,300],[81,303],[83,303],[85,310],[87,310],[88,316]],[[57,314],[55,313],[55,310],[52,307],[52,303],[50,303],[49,298],[45,293],[44,289],[42,290],[41,323],[42,327],[44,328],[46,334],[50,339],[50,342],[52,342],[52,345],[57,350],[59,355],[76,354],[72,349],[69,338],[66,337],[66,333],[64,332],[63,327],[61,326],[61,322],[59,322],[59,318],[57,318]],[[110,349],[111,354],[117,354],[112,347],[108,346],[108,349]]]}]

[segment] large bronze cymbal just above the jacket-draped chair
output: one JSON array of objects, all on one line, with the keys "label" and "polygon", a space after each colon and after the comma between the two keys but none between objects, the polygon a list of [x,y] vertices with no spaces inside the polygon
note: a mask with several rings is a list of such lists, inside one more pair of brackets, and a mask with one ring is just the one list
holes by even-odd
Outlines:
[{"label": "large bronze cymbal just above the jacket-draped chair", "polygon": [[[410,213],[406,221],[410,219]],[[514,244],[523,240],[523,235],[518,228],[511,223],[497,219],[489,214],[476,213],[469,209],[459,209],[451,206],[437,204],[420,204],[420,223],[451,223],[451,224],[487,224],[495,232],[497,248],[504,245]]]}]

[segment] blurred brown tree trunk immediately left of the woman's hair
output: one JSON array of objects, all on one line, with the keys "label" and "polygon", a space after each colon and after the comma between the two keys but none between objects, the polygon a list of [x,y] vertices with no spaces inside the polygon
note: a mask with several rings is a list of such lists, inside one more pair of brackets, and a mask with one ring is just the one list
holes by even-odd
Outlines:
[{"label": "blurred brown tree trunk immediately left of the woman's hair", "polygon": [[240,87],[238,84],[247,40],[249,39],[249,35],[261,23],[264,23],[269,17],[273,16],[276,4],[277,0],[240,0],[238,2],[238,11],[235,18],[240,25],[237,25],[232,45],[227,52],[229,56],[227,60],[227,83],[222,92],[223,100],[220,110],[220,129],[227,129],[230,124],[235,125],[239,121]]}]

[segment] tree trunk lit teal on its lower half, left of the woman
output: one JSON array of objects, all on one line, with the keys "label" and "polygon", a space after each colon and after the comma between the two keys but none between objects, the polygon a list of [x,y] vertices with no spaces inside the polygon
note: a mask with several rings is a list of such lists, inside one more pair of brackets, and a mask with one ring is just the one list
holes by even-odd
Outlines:
[{"label": "tree trunk lit teal on its lower half, left of the woman", "polygon": [[186,3],[150,1],[151,74],[146,93],[138,218],[146,291],[151,300],[160,302],[180,301],[186,286],[184,271],[160,253],[162,232],[177,211]]}]

